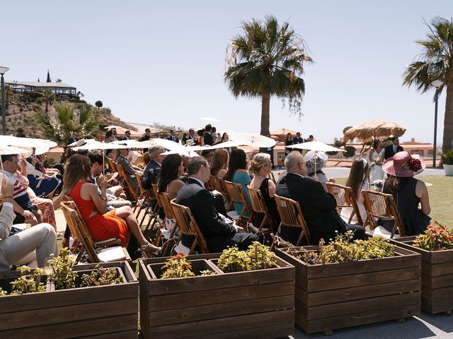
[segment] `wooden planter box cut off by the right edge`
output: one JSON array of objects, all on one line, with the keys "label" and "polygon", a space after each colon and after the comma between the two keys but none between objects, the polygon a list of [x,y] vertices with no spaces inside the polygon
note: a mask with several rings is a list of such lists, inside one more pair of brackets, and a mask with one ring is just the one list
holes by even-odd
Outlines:
[{"label": "wooden planter box cut off by the right edge", "polygon": [[431,314],[453,311],[453,249],[426,251],[412,246],[415,237],[396,238],[398,246],[422,255],[422,309]]}]

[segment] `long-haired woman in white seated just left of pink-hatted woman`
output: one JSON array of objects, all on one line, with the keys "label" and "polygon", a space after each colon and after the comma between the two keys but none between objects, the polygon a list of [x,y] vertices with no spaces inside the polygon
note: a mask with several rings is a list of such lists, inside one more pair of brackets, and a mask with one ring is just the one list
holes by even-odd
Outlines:
[{"label": "long-haired woman in white seated just left of pink-hatted woman", "polygon": [[[352,196],[357,202],[360,217],[362,217],[362,222],[364,222],[365,218],[367,218],[367,211],[365,210],[365,206],[363,205],[363,196],[361,191],[364,189],[369,189],[368,176],[369,166],[367,161],[365,159],[354,160],[354,162],[352,162],[351,171],[349,173],[346,186],[352,189]],[[345,207],[341,210],[340,216],[341,218],[343,218],[343,220],[345,220],[345,222],[349,222],[349,218],[352,212],[352,207]],[[356,215],[352,217],[352,220],[349,223],[357,224]]]}]

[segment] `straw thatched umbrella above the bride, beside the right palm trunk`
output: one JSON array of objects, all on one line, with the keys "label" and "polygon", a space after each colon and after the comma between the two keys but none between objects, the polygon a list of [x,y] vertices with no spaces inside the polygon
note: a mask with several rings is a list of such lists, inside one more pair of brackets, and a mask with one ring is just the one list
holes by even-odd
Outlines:
[{"label": "straw thatched umbrella above the bride, beside the right palm trunk", "polygon": [[363,143],[375,138],[388,138],[389,136],[402,136],[406,129],[391,121],[373,120],[351,127],[345,132],[343,141],[353,141],[355,138]]}]

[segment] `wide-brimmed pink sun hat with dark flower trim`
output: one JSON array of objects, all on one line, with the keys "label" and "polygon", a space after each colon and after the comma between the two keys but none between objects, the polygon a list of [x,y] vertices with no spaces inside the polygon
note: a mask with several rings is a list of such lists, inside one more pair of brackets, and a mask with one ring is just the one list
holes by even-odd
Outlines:
[{"label": "wide-brimmed pink sun hat with dark flower trim", "polygon": [[426,165],[419,155],[411,155],[405,150],[385,160],[382,169],[394,177],[413,177],[425,169]]}]

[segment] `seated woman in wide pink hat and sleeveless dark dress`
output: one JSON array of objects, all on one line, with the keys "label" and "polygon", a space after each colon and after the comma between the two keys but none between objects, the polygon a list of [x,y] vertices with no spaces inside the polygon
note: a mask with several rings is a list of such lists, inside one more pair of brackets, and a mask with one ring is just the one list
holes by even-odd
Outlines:
[{"label": "seated woman in wide pink hat and sleeveless dark dress", "polygon": [[[384,182],[384,193],[394,196],[406,235],[421,234],[430,225],[428,189],[424,182],[413,178],[423,172],[425,167],[423,159],[413,157],[406,151],[396,153],[382,165],[382,169],[389,176]],[[419,203],[421,209],[418,208]],[[389,232],[393,223],[393,220],[378,220],[378,224]]]}]

